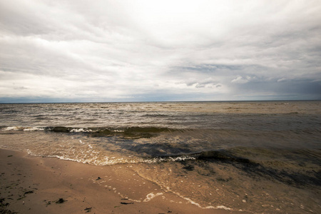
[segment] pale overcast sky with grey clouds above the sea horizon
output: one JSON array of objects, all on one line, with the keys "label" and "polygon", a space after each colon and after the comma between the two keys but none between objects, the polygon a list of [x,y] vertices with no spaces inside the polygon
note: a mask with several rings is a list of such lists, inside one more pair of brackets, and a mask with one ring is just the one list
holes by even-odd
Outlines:
[{"label": "pale overcast sky with grey clouds above the sea horizon", "polygon": [[318,0],[0,0],[0,103],[310,99]]}]

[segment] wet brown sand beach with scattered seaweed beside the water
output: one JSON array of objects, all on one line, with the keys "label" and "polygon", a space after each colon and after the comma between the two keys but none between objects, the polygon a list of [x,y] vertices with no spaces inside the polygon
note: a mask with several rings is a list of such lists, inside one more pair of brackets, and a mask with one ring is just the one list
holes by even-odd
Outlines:
[{"label": "wet brown sand beach with scattered seaweed beside the water", "polygon": [[140,178],[131,165],[95,166],[1,149],[0,174],[0,213],[238,213],[198,208]]}]

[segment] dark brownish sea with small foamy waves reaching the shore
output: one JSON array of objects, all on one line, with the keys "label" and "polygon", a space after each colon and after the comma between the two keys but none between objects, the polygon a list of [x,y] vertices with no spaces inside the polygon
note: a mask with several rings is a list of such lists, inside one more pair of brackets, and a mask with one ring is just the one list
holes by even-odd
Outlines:
[{"label": "dark brownish sea with small foamy waves reaching the shore", "polygon": [[200,208],[321,213],[321,101],[3,103],[0,148],[130,166]]}]

